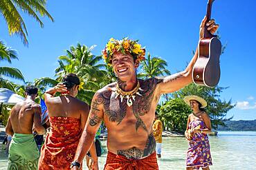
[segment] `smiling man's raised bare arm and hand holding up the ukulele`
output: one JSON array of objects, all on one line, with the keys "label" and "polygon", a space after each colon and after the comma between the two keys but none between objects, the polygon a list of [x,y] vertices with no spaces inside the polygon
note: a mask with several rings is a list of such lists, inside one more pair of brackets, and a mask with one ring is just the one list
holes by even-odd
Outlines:
[{"label": "smiling man's raised bare arm and hand holding up the ukulele", "polygon": [[[203,37],[204,34],[204,27],[206,23],[206,17],[203,18],[201,25],[200,25],[200,31],[199,31],[199,39]],[[207,29],[210,30],[212,34],[216,32],[217,28],[219,28],[218,24],[215,24],[214,19],[211,19],[206,26]],[[181,89],[182,87],[185,87],[185,85],[189,85],[192,83],[192,70],[194,67],[194,63],[196,63],[196,60],[198,58],[198,48],[196,48],[196,52],[188,64],[188,67],[185,68],[183,72],[178,72],[176,74],[172,74],[170,76],[166,76],[163,78],[163,81],[158,84],[158,94],[167,94],[171,92],[175,92],[176,90]]]}]

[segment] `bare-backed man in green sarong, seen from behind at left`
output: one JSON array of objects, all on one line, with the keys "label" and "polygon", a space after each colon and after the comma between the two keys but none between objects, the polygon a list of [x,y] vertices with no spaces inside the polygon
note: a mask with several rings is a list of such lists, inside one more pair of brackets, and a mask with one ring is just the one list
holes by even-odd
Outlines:
[{"label": "bare-backed man in green sarong, seen from behind at left", "polygon": [[41,107],[35,103],[37,87],[26,87],[26,100],[17,103],[10,111],[6,134],[12,136],[8,169],[37,169],[39,150],[33,131],[45,134],[41,125]]}]

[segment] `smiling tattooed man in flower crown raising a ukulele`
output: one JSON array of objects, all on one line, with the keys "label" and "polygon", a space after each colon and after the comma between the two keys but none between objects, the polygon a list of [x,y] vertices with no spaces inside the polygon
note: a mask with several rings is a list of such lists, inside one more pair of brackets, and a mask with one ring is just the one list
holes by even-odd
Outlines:
[{"label": "smiling tattooed man in flower crown raising a ukulele", "polygon": [[[203,36],[205,22],[206,17],[201,23],[199,38]],[[212,34],[219,27],[213,19],[206,26]],[[197,56],[198,50],[183,72],[140,80],[136,68],[145,59],[145,49],[138,41],[110,39],[103,58],[113,67],[118,81],[103,87],[93,96],[89,119],[71,167],[79,169],[104,120],[109,150],[104,169],[158,169],[152,132],[156,105],[162,94],[175,92],[192,83],[192,67]]]}]

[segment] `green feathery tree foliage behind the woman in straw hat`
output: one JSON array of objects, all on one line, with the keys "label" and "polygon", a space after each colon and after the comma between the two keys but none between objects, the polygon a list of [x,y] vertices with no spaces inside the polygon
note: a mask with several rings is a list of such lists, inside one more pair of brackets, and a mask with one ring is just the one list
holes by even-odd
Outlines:
[{"label": "green feathery tree foliage behind the woman in straw hat", "polygon": [[183,99],[185,96],[196,95],[201,96],[206,100],[208,106],[205,108],[205,111],[210,116],[212,127],[217,129],[218,125],[225,125],[225,121],[230,120],[231,118],[226,118],[227,112],[235,107],[231,104],[231,99],[229,101],[221,100],[220,94],[224,89],[228,87],[205,87],[200,85],[195,85],[194,83],[184,87],[183,89],[174,92],[172,96],[174,98]]}]

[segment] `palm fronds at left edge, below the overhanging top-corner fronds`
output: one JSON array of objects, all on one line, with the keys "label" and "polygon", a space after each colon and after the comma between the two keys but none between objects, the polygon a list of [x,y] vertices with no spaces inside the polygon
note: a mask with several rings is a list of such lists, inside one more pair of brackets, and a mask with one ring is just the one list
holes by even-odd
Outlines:
[{"label": "palm fronds at left edge, below the overhanging top-corner fronds", "polygon": [[[12,50],[10,47],[7,47],[3,42],[0,41],[0,61],[8,61],[8,63],[12,63],[12,59],[17,58],[17,52]],[[9,78],[15,78],[21,81],[24,81],[24,76],[21,72],[14,67],[0,67],[0,87],[6,87],[8,89],[15,89],[14,83],[8,81],[3,76],[7,76]]]}]

